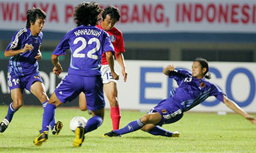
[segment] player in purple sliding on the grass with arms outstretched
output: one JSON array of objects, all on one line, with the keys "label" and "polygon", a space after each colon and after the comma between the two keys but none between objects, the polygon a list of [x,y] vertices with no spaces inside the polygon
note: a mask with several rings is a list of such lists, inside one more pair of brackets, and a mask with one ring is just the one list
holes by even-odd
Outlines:
[{"label": "player in purple sliding on the grass with arms outstretched", "polygon": [[[168,65],[163,73],[177,81],[178,88],[171,91],[172,95],[168,99],[160,101],[153,109],[139,120],[132,121],[120,130],[110,131],[104,137],[120,136],[141,129],[152,135],[167,137],[179,137],[179,132],[170,132],[162,129],[163,124],[171,124],[180,120],[185,111],[194,108],[202,103],[209,96],[215,96],[223,101],[230,109],[244,116],[251,123],[255,124],[255,118],[248,115],[234,101],[227,96],[213,83],[208,73],[208,62],[203,58],[196,58],[192,65],[192,73],[188,70],[176,70],[174,65]],[[206,78],[206,79],[205,79]]]}]

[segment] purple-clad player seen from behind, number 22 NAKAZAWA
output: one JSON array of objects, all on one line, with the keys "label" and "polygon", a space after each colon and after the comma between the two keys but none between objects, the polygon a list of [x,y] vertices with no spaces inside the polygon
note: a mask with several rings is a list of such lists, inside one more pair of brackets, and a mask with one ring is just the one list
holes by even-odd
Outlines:
[{"label": "purple-clad player seen from behind, number 22 NAKAZAWA", "polygon": [[53,73],[59,75],[62,72],[58,56],[64,55],[65,50],[70,48],[71,61],[68,75],[62,79],[53,92],[45,112],[41,134],[34,140],[35,145],[42,145],[48,139],[48,125],[52,120],[58,105],[75,99],[81,92],[86,94],[87,108],[92,111],[92,118],[87,121],[85,127],[77,127],[75,130],[75,147],[81,146],[84,135],[96,130],[102,124],[104,118],[105,101],[103,84],[101,80],[101,57],[106,54],[113,78],[119,76],[114,71],[114,47],[110,36],[104,30],[95,25],[100,20],[102,9],[95,2],[82,2],[75,7],[73,18],[76,28],[68,31],[52,53],[52,63],[55,66]]}]

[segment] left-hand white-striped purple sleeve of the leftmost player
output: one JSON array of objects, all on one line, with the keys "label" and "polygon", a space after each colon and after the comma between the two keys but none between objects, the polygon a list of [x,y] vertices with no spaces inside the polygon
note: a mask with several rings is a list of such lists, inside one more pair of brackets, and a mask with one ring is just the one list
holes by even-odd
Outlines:
[{"label": "left-hand white-striped purple sleeve of the leftmost player", "polygon": [[12,40],[8,44],[5,51],[22,49],[21,44],[24,41],[25,37],[26,36],[24,35],[24,29],[18,30],[16,33],[14,33]]}]

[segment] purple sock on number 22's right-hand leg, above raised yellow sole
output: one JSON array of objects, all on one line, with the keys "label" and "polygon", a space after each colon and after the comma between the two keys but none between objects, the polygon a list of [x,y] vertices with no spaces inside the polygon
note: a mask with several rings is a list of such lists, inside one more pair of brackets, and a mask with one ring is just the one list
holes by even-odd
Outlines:
[{"label": "purple sock on number 22's right-hand leg, above raised yellow sole", "polygon": [[85,133],[96,130],[102,124],[102,119],[100,116],[93,116],[90,118],[85,126]]}]

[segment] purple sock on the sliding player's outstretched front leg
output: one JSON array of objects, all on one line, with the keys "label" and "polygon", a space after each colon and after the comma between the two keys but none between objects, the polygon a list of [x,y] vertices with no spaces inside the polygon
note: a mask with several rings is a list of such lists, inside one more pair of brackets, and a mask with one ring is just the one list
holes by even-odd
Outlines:
[{"label": "purple sock on the sliding player's outstretched front leg", "polygon": [[116,134],[127,134],[133,131],[137,131],[141,129],[144,124],[139,120],[132,121],[131,123],[127,124],[125,127],[119,130],[114,130]]}]

